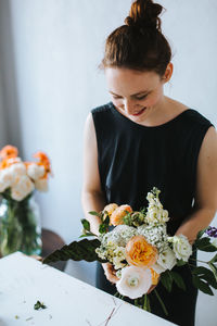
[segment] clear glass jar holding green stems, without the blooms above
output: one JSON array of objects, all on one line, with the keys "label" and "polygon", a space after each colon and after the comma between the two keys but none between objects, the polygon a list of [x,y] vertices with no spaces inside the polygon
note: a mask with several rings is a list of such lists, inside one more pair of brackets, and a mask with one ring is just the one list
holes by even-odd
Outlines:
[{"label": "clear glass jar holding green stems, without the blooms above", "polygon": [[0,203],[0,254],[22,251],[27,255],[40,254],[41,225],[39,206],[31,196],[22,201],[11,198]]}]

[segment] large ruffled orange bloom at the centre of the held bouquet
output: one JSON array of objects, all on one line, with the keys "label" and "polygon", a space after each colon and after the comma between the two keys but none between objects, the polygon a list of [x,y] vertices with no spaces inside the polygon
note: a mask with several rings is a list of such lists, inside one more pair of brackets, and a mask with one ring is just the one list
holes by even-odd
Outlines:
[{"label": "large ruffled orange bloom at the centre of the held bouquet", "polygon": [[157,249],[143,236],[132,237],[125,249],[127,262],[138,267],[151,267],[157,260]]}]

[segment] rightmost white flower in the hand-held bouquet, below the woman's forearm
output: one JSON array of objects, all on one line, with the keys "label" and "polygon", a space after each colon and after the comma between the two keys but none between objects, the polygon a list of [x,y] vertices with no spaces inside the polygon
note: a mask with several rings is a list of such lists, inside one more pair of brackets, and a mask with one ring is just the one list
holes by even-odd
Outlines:
[{"label": "rightmost white flower in the hand-held bouquet, below the woman's forearm", "polygon": [[190,255],[192,254],[192,246],[186,236],[179,235],[168,238],[169,242],[173,242],[173,249],[178,260],[188,262]]}]

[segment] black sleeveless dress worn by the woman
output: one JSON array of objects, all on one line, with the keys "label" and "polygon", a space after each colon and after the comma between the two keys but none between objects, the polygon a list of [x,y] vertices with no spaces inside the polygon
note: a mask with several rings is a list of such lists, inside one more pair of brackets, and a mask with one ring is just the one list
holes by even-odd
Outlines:
[{"label": "black sleeveless dress worn by the woman", "polygon": [[[193,211],[197,158],[210,122],[192,109],[155,127],[133,123],[112,102],[91,112],[101,187],[107,203],[130,204],[139,210],[148,204],[146,193],[157,187],[161,202],[169,212],[167,233],[174,235]],[[169,293],[159,283],[156,289],[169,315],[164,314],[153,292],[149,294],[152,313],[181,326],[193,326],[197,290],[189,266],[178,267],[177,272],[181,273],[187,291],[174,285]],[[100,264],[97,287],[116,292]]]}]

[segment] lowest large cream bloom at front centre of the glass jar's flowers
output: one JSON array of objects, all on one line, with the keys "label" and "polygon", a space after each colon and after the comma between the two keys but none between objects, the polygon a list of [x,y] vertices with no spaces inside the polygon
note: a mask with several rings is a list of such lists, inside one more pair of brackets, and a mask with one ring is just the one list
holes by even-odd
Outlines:
[{"label": "lowest large cream bloom at front centre of the glass jar's flowers", "polygon": [[11,197],[21,201],[35,189],[34,183],[27,175],[17,176],[15,183],[11,187]]}]

